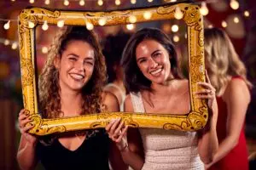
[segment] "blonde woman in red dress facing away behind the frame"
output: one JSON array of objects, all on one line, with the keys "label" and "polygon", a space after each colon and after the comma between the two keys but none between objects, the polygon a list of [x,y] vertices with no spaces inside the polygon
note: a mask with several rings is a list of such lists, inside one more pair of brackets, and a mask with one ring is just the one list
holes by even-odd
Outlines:
[{"label": "blonde woman in red dress facing away behind the frame", "polygon": [[228,35],[218,29],[205,30],[206,67],[218,103],[219,148],[206,167],[211,170],[247,170],[248,154],[244,120],[252,83]]}]

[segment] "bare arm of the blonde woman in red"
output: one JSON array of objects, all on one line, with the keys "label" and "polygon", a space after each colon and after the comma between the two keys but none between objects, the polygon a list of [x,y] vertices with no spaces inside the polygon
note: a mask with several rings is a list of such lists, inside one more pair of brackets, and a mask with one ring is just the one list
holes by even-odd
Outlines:
[{"label": "bare arm of the blonde woman in red", "polygon": [[223,95],[227,105],[226,138],[219,144],[218,151],[213,156],[213,160],[206,167],[221,160],[239,142],[241,128],[243,127],[247,106],[251,100],[246,83],[241,79],[232,79]]}]

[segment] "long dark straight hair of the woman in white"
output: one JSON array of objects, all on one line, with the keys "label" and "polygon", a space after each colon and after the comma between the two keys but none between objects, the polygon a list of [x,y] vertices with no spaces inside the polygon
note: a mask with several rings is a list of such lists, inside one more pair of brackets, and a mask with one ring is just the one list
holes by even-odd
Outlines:
[{"label": "long dark straight hair of the woman in white", "polygon": [[170,38],[159,29],[143,28],[142,30],[137,31],[127,42],[121,59],[121,65],[125,72],[125,88],[128,92],[137,93],[140,90],[150,91],[151,81],[143,76],[143,73],[139,70],[136,61],[137,45],[146,39],[155,40],[166,48],[169,54],[173,76],[176,78],[182,77],[181,72],[177,68],[177,53]]}]

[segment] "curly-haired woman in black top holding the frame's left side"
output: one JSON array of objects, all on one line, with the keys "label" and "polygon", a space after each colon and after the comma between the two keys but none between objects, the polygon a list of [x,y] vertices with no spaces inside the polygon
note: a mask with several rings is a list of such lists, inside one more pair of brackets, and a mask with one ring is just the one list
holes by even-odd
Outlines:
[{"label": "curly-haired woman in black top holding the frame's left side", "polygon": [[[39,104],[43,118],[80,116],[119,111],[113,94],[103,93],[106,65],[93,31],[68,26],[55,37],[39,77]],[[41,161],[45,169],[122,169],[119,153],[104,129],[54,134],[38,139],[28,133],[33,127],[26,110],[20,111],[21,169],[33,169]],[[119,164],[117,164],[117,162]]]}]

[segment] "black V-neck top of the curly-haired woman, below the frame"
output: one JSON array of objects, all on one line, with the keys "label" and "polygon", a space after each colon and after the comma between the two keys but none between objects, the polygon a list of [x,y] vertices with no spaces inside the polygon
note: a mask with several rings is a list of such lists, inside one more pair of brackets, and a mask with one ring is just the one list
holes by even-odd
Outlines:
[{"label": "black V-neck top of the curly-haired woman, below the frame", "polygon": [[109,170],[109,138],[102,130],[86,137],[77,150],[68,150],[58,139],[50,145],[38,142],[36,150],[38,160],[47,170]]}]

